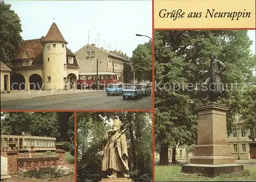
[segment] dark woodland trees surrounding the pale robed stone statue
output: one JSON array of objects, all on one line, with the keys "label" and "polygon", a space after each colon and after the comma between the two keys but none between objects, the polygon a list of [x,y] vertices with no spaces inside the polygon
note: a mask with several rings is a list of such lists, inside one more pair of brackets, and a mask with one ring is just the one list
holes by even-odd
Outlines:
[{"label": "dark woodland trees surrounding the pale robed stone statue", "polygon": [[117,116],[125,128],[130,176],[136,181],[152,181],[152,115],[147,112],[78,112],[78,181],[102,178],[102,136]]}]

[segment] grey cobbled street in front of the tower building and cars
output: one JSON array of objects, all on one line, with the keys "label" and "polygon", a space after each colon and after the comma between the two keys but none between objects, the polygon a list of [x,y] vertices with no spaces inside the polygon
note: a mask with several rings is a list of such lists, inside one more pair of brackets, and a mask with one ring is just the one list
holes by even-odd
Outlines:
[{"label": "grey cobbled street in front of the tower building and cars", "polygon": [[84,109],[152,109],[152,96],[123,99],[107,96],[105,90],[52,95],[15,100],[1,100],[2,110],[84,110]]}]

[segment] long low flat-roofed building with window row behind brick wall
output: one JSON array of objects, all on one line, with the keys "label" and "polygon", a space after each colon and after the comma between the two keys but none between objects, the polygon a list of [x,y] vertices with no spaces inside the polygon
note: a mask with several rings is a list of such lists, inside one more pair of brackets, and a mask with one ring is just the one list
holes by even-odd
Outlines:
[{"label": "long low flat-roofed building with window row behind brick wall", "polygon": [[15,142],[19,151],[28,151],[32,146],[36,151],[56,150],[56,138],[53,137],[1,134],[1,148],[7,148],[9,142]]}]

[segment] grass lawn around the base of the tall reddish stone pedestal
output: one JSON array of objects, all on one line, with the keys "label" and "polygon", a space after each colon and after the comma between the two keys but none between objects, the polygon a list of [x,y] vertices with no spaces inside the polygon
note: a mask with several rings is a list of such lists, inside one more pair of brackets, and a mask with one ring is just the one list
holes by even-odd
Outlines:
[{"label": "grass lawn around the base of the tall reddish stone pedestal", "polygon": [[256,167],[244,166],[244,171],[217,177],[181,174],[181,166],[156,166],[155,181],[256,181]]}]

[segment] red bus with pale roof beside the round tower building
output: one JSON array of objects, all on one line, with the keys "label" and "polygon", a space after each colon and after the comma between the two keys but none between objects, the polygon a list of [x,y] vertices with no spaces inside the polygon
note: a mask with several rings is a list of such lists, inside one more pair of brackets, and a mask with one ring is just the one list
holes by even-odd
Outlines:
[{"label": "red bus with pale roof beside the round tower building", "polygon": [[[77,87],[81,89],[85,88],[96,88],[97,82],[97,73],[79,73],[79,78],[77,80]],[[100,89],[104,89],[108,87],[110,83],[120,83],[117,80],[117,75],[111,72],[99,72],[99,87]]]}]

